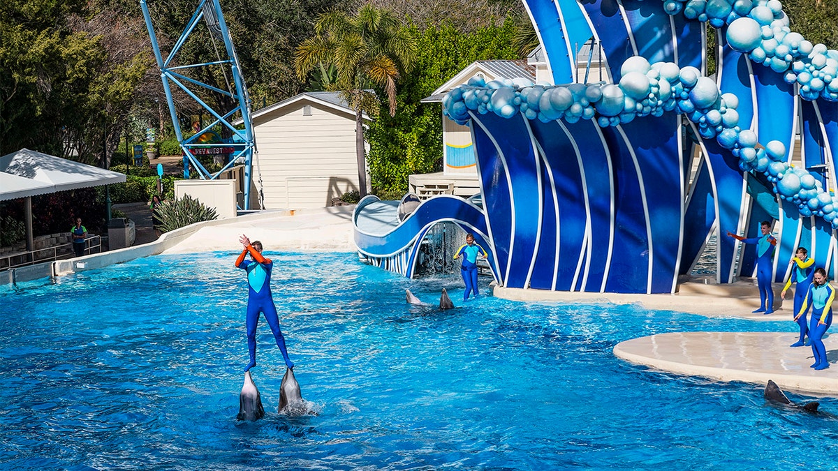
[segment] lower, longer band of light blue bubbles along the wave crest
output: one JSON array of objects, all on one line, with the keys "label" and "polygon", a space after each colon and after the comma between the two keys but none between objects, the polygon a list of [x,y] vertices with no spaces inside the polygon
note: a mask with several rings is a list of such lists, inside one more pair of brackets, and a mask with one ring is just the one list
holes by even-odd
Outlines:
[{"label": "lower, longer band of light blue bubbles along the wave crest", "polygon": [[519,113],[541,122],[596,120],[600,127],[618,126],[639,116],[661,116],[664,111],[683,114],[696,123],[701,137],[715,137],[722,148],[739,158],[739,168],[758,172],[774,184],[782,199],[796,204],[804,216],[819,215],[838,229],[838,199],[826,193],[818,179],[803,168],[786,163],[783,142],[765,147],[757,135],[738,125],[739,100],[722,94],[716,83],[695,67],[679,68],[671,62],[649,64],[635,56],[623,63],[618,84],[546,85],[529,80],[492,80],[475,77],[442,100],[443,113],[459,124],[469,113],[511,118]]}]

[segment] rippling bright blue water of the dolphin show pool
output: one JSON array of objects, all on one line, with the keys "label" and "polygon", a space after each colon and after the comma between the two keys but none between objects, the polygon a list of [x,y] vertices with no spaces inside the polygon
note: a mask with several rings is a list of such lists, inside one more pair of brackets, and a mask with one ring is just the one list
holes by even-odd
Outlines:
[{"label": "rippling bright blue water of the dolphin show pool", "polygon": [[[154,256],[0,288],[0,468],[834,468],[835,417],[612,353],[644,335],[791,323],[463,303],[456,277],[408,280],[353,254],[271,255],[317,416],[277,414],[284,366],[263,320],[253,376],[268,414],[237,422],[247,350],[235,254]],[[405,302],[409,288],[437,303],[442,287],[458,308]],[[821,408],[838,414],[838,401]]]}]

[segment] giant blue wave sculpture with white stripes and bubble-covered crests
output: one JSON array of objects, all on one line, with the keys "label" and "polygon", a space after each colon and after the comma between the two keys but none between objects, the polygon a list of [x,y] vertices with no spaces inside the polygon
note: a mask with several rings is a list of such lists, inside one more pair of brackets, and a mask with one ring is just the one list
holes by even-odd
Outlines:
[{"label": "giant blue wave sculpture with white stripes and bubble-covered crests", "polygon": [[[572,44],[591,37],[612,83],[475,78],[443,100],[472,128],[499,283],[674,292],[714,231],[750,236],[760,220],[778,221],[775,280],[797,246],[835,273],[838,51],[792,32],[777,0],[525,6],[555,83],[579,80]],[[716,80],[701,23],[719,28]],[[798,131],[804,168],[790,164]],[[737,243],[719,238],[719,282],[753,274],[755,249]]]}]

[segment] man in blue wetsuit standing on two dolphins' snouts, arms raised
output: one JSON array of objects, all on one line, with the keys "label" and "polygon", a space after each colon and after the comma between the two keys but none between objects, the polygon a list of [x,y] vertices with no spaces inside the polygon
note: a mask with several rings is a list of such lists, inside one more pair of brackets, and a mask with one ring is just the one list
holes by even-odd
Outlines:
[{"label": "man in blue wetsuit standing on two dolphins' snouts, arms raised", "polygon": [[[247,349],[251,354],[251,362],[247,364],[245,371],[256,366],[256,326],[259,324],[259,314],[264,313],[267,324],[271,326],[274,338],[277,339],[277,346],[285,359],[285,365],[293,368],[294,364],[288,359],[288,351],[285,349],[285,338],[282,337],[282,330],[279,329],[279,317],[277,307],[273,303],[271,294],[271,271],[273,261],[261,255],[262,245],[260,241],[251,240],[246,235],[239,238],[245,250],[241,251],[239,258],[235,260],[235,266],[247,272]],[[250,253],[252,260],[245,260]]]}]

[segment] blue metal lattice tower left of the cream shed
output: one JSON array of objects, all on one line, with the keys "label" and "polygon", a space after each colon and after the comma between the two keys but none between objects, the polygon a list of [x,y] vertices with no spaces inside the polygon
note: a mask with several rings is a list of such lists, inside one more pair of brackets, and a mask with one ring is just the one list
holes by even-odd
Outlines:
[{"label": "blue metal lattice tower left of the cream shed", "polygon": [[[192,15],[192,18],[189,19],[189,23],[186,23],[184,32],[180,34],[180,37],[174,43],[172,50],[169,51],[168,56],[166,56],[165,59],[163,58],[163,54],[160,52],[160,46],[158,44],[157,35],[154,33],[152,18],[148,13],[146,0],[140,0],[140,7],[142,8],[142,15],[146,20],[146,27],[148,28],[148,36],[152,42],[154,56],[157,58],[158,67],[160,68],[160,78],[163,80],[163,90],[166,92],[166,101],[168,101],[168,110],[172,115],[174,132],[178,137],[180,147],[184,151],[184,175],[189,174],[187,163],[191,163],[193,167],[198,170],[201,179],[215,179],[221,173],[225,172],[225,170],[232,167],[235,163],[244,163],[245,198],[243,209],[249,210],[252,163],[253,155],[256,152],[256,139],[253,136],[253,123],[251,121],[251,103],[250,97],[247,95],[245,80],[241,76],[239,60],[236,57],[235,48],[233,47],[233,42],[230,39],[230,31],[227,29],[224,15],[221,13],[219,0],[199,1],[198,8],[195,9],[195,13]],[[211,37],[224,42],[226,57],[223,57],[222,54],[219,53],[219,60],[217,61],[191,65],[173,65],[173,63],[176,63],[174,59],[177,56],[178,51],[181,50],[186,43],[186,40],[189,39],[189,35],[194,32],[195,27],[199,25],[202,19],[206,23]],[[222,90],[214,85],[206,84],[186,75],[189,73],[189,70],[195,70],[199,67],[212,66],[222,67],[225,77],[229,71],[233,80],[232,83],[228,80],[228,90]],[[184,134],[180,129],[180,123],[178,122],[177,108],[172,99],[172,85],[180,88],[187,96],[196,101],[202,108],[204,108],[204,110],[209,112],[211,116],[214,116],[215,121],[210,122],[209,125],[205,126],[199,132],[196,132],[194,136],[184,138]],[[192,88],[190,88],[189,85],[191,85]],[[216,93],[232,98],[236,102],[236,106],[231,110],[216,111],[196,93],[197,90],[202,88],[204,90],[215,91]],[[237,113],[241,113],[241,115]],[[238,129],[233,125],[233,121],[239,117],[241,117],[241,121],[244,123],[244,129]],[[227,142],[208,143],[198,141],[199,137],[202,136],[204,132],[208,132],[218,124],[222,127],[228,128],[232,133],[230,138],[225,139]],[[219,153],[212,152],[215,149],[232,149],[232,152],[230,153],[230,158],[224,168],[216,173],[209,173],[209,171],[198,161],[196,155],[200,153]]]}]

